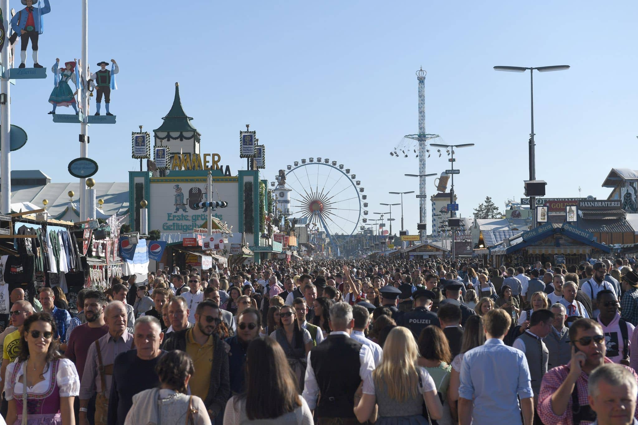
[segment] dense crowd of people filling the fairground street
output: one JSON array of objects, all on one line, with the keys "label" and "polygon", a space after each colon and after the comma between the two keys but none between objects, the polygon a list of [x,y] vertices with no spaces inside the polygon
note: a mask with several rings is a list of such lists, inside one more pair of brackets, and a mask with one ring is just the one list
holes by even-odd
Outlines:
[{"label": "dense crowd of people filling the fairground street", "polygon": [[37,305],[16,290],[0,411],[33,425],[638,425],[637,268],[166,268],[82,289],[77,310],[59,287]]}]

